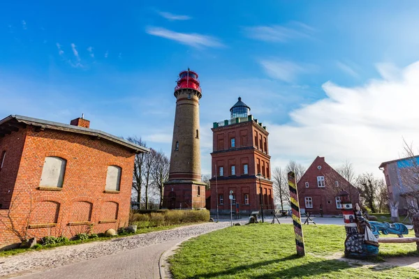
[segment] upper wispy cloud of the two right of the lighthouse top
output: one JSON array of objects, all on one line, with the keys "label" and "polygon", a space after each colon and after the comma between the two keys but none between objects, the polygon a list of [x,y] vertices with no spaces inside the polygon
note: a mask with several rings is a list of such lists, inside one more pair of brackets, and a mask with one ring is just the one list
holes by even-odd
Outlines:
[{"label": "upper wispy cloud of the two right of the lighthouse top", "polygon": [[286,43],[296,38],[311,38],[315,29],[301,22],[290,22],[286,25],[269,25],[245,27],[244,33],[249,38],[274,43]]}]

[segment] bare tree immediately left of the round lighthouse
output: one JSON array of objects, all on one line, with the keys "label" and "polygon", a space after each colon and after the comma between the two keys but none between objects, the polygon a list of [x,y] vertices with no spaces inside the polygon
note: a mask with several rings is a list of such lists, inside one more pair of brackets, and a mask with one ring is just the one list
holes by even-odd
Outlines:
[{"label": "bare tree immediately left of the round lighthouse", "polygon": [[152,153],[152,185],[159,192],[159,209],[163,206],[164,183],[169,179],[170,160],[163,151]]}]

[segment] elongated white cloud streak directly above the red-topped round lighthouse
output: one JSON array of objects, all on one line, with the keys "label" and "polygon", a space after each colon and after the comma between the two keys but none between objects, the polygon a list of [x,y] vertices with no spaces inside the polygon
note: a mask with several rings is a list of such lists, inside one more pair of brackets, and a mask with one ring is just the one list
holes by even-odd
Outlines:
[{"label": "elongated white cloud streak directly above the red-topped round lighthouse", "polygon": [[220,43],[218,39],[211,36],[201,35],[198,33],[179,33],[161,27],[147,27],[146,33],[153,36],[167,38],[169,40],[175,40],[178,43],[182,43],[184,45],[191,45],[191,47],[223,46],[223,44]]}]

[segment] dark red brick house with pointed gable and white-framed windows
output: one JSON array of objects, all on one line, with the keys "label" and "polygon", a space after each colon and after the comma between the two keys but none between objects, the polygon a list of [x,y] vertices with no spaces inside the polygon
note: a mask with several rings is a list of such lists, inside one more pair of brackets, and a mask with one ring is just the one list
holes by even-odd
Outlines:
[{"label": "dark red brick house with pointed gable and white-framed windows", "polygon": [[[318,177],[321,181],[318,181]],[[314,214],[321,213],[321,209],[323,215],[341,214],[339,198],[337,199],[341,190],[346,190],[351,195],[353,204],[359,204],[358,189],[326,163],[324,157],[317,156],[314,159],[297,182],[297,187],[300,208]]]}]

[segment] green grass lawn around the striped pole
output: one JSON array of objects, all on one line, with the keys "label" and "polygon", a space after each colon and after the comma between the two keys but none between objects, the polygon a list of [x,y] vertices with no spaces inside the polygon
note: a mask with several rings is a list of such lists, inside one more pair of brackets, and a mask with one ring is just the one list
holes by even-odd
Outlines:
[{"label": "green grass lawn around the striped pole", "polygon": [[[367,267],[325,259],[325,256],[344,252],[344,227],[304,225],[303,229],[306,257],[296,256],[292,225],[246,225],[221,229],[186,241],[169,259],[170,271],[176,279],[419,278],[416,269],[379,263]],[[416,243],[382,243],[380,246],[381,260],[407,255],[419,256]]]}]

